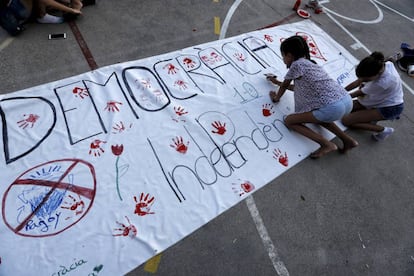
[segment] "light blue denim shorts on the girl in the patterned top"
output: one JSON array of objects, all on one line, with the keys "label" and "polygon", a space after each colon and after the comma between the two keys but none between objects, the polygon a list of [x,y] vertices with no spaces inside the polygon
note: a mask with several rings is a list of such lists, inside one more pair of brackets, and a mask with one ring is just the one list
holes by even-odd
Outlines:
[{"label": "light blue denim shorts on the girl in the patterned top", "polygon": [[318,121],[330,123],[342,119],[343,116],[351,111],[352,98],[350,95],[346,95],[334,103],[313,110],[312,114]]}]

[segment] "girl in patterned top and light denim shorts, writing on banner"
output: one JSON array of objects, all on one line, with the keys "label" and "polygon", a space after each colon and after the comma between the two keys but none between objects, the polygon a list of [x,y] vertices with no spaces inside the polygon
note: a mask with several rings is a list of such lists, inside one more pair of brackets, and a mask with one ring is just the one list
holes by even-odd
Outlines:
[{"label": "girl in patterned top and light denim shorts, writing on banner", "polygon": [[280,86],[278,92],[270,92],[270,98],[276,103],[286,89],[293,91],[295,113],[286,116],[285,125],[321,146],[310,157],[319,158],[338,147],[307,127],[306,123],[321,125],[338,136],[343,142],[341,152],[356,147],[358,142],[335,124],[336,120],[352,110],[352,99],[348,92],[330,78],[322,67],[310,60],[309,46],[301,36],[285,39],[280,45],[280,51],[289,70],[283,82],[278,81],[274,75],[267,76],[269,81]]}]

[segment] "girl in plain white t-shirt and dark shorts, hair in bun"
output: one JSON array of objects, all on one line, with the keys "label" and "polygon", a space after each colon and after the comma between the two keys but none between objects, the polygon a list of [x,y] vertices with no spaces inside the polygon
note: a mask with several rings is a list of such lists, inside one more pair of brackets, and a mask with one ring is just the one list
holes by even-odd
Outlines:
[{"label": "girl in plain white t-shirt and dark shorts, hair in bun", "polygon": [[399,119],[403,109],[403,89],[400,75],[381,52],[373,52],[356,67],[357,80],[345,87],[354,100],[352,112],[342,119],[350,128],[374,132],[372,138],[384,140],[394,132],[377,121]]}]

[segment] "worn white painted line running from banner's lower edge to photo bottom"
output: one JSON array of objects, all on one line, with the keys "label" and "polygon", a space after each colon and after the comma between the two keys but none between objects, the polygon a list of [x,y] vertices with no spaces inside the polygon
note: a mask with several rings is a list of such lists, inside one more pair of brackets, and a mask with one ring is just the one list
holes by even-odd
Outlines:
[{"label": "worn white painted line running from banner's lower edge to photo bottom", "polygon": [[272,261],[273,267],[276,270],[276,273],[279,276],[289,276],[289,271],[287,270],[285,264],[280,260],[279,253],[275,245],[272,242],[272,239],[267,232],[266,226],[263,223],[262,217],[260,216],[259,210],[257,210],[256,203],[254,202],[253,196],[246,198],[246,205],[250,211],[250,215],[253,218],[253,221],[256,225],[257,232],[259,232],[260,238],[262,239],[263,245],[267,250],[270,260]]}]

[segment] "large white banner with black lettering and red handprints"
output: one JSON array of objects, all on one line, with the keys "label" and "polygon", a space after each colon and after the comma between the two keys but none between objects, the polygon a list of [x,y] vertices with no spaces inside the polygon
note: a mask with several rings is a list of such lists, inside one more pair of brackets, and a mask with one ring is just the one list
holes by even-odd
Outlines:
[{"label": "large white banner with black lettering and red handprints", "polygon": [[302,21],[2,95],[0,275],[124,274],[306,158],[318,145],[283,124],[292,92],[273,104],[264,76],[283,78],[296,34],[354,78]]}]

